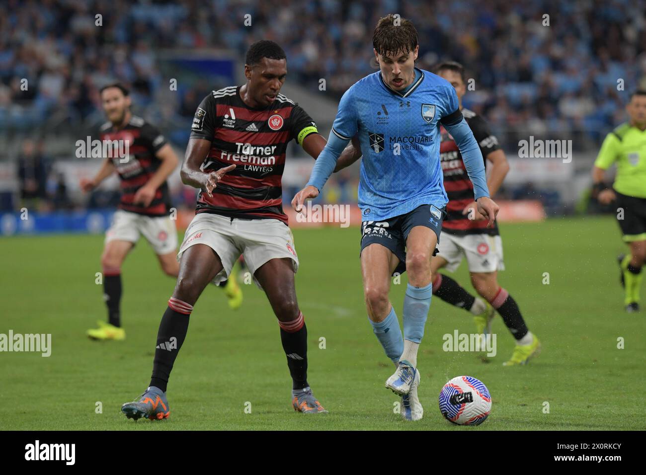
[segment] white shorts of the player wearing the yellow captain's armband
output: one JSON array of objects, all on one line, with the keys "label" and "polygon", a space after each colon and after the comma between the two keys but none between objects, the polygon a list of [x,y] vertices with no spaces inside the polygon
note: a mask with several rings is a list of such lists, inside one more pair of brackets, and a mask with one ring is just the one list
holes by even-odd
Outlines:
[{"label": "white shorts of the player wearing the yellow captain's armband", "polygon": [[271,259],[288,257],[294,272],[298,270],[291,229],[277,219],[232,219],[214,213],[198,213],[186,229],[177,259],[180,260],[182,253],[194,244],[206,244],[220,257],[223,269],[213,279],[214,284],[229,277],[240,254],[244,255],[244,262],[258,287],[256,270]]}]

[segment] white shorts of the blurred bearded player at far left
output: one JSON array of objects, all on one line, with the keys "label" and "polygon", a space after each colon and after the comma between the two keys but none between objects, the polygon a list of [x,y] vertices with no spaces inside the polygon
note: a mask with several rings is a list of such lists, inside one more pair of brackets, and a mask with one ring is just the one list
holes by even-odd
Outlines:
[{"label": "white shorts of the blurred bearded player at far left", "polygon": [[151,243],[158,255],[177,249],[177,229],[171,216],[145,216],[123,209],[118,209],[112,216],[112,224],[105,232],[105,243],[113,240],[136,243],[140,235]]}]

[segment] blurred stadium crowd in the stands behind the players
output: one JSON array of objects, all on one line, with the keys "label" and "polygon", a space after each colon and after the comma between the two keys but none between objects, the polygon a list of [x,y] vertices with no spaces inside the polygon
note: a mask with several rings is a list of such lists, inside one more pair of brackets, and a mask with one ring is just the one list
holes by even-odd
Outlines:
[{"label": "blurred stadium crowd in the stands behind the players", "polygon": [[[461,1],[283,0],[280,7],[259,0],[5,1],[0,128],[28,131],[52,118],[99,120],[98,89],[114,79],[131,85],[133,102],[158,122],[161,116],[176,126],[189,123],[192,104],[211,85],[182,90],[162,109],[156,96],[167,79],[158,50],[215,47],[240,54],[262,38],[285,48],[290,81],[318,91],[325,78],[338,99],[373,72],[368,33],[386,11],[415,19],[426,39],[419,66],[428,69],[444,57],[466,65],[475,79],[466,107],[486,114],[503,144],[532,131],[567,134],[575,146],[594,148],[623,120],[628,94],[618,91],[618,78],[626,90],[646,78],[646,20],[630,0],[492,0],[477,9]],[[550,11],[558,13],[546,18]],[[251,26],[241,28],[247,14]],[[21,90],[23,78],[30,80],[28,90]]]}]

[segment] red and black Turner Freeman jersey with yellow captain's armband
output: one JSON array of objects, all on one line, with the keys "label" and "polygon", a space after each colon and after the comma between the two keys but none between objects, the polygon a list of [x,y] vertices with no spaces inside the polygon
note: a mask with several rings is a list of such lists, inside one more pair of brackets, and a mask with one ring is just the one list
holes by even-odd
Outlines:
[{"label": "red and black Turner Freeman jersey with yellow captain's armband", "polygon": [[316,123],[283,94],[271,106],[254,109],[240,98],[240,86],[211,92],[195,112],[191,138],[211,141],[203,171],[236,168],[218,182],[213,196],[200,192],[196,213],[273,218],[287,224],[281,187],[287,144],[297,140],[302,145],[313,132]]}]

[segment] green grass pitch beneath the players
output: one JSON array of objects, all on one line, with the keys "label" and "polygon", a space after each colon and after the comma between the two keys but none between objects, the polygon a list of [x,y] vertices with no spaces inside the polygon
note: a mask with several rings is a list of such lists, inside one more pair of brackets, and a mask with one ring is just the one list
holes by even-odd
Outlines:
[{"label": "green grass pitch beneath the players", "polygon": [[[417,423],[393,412],[399,399],[384,388],[393,368],[367,321],[357,228],[294,232],[308,379],[330,414],[304,416],[291,408],[286,358],[264,293],[243,286],[243,307],[233,312],[222,291],[209,286],[171,375],[171,416],[161,422],[120,414],[121,403],[149,382],[158,324],[174,286],[148,244],[141,240],[123,266],[127,339],[98,343],[85,331],[106,314],[95,284],[103,237],[2,238],[0,333],[52,333],[52,355],[0,353],[0,429],[643,429],[646,315],[623,312],[615,259],[624,246],[616,223],[503,223],[501,233],[506,271],[499,281],[519,302],[543,352],[528,366],[503,367],[514,342],[499,316],[495,357],[485,362],[474,353],[444,352],[444,333],[474,327],[470,314],[433,298],[418,358],[424,419]],[[456,275],[472,290],[464,262]],[[390,293],[400,319],[405,285],[402,279]],[[492,413],[477,428],[454,427],[437,407],[444,383],[463,374],[481,379],[492,394]]]}]

